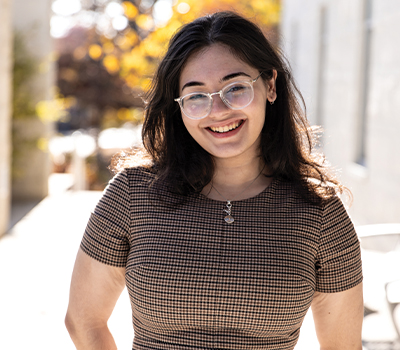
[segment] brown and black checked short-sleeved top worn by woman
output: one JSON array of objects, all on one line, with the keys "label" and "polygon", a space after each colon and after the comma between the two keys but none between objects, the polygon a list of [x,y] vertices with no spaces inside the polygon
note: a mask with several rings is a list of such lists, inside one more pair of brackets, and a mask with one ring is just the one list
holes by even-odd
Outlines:
[{"label": "brown and black checked short-sleeved top worn by woman", "polygon": [[315,291],[362,281],[353,224],[337,198],[306,203],[274,179],[256,197],[181,198],[142,168],[119,173],[92,214],[82,249],[126,267],[133,349],[293,349]]}]

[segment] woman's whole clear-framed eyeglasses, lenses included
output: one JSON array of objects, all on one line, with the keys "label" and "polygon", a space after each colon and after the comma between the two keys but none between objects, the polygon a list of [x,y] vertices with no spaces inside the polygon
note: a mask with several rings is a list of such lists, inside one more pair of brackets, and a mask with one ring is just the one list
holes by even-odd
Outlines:
[{"label": "woman's whole clear-framed eyeglasses, lenses included", "polygon": [[182,112],[190,119],[207,117],[212,109],[212,97],[214,95],[219,95],[222,102],[230,109],[243,109],[253,101],[253,84],[261,75],[262,72],[255,79],[232,82],[218,92],[191,92],[190,94],[174,99],[174,101],[179,103]]}]

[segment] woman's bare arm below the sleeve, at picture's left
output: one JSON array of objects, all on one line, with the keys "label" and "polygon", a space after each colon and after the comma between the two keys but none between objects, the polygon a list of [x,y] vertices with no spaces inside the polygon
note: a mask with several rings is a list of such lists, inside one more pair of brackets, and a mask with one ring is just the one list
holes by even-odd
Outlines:
[{"label": "woman's bare arm below the sleeve, at picture's left", "polygon": [[117,349],[107,321],[125,287],[125,268],[103,264],[79,249],[65,325],[79,349]]}]

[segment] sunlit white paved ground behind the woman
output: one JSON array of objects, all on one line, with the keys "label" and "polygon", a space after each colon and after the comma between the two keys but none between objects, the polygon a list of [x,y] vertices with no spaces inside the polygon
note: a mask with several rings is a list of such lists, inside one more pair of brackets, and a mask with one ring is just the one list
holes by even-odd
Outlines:
[{"label": "sunlit white paved ground behind the woman", "polygon": [[[69,283],[86,222],[100,195],[53,194],[0,239],[0,349],[74,349],[64,327]],[[131,349],[133,330],[126,290],[109,326],[118,349]],[[390,324],[385,319],[365,326],[377,334],[377,340],[393,336],[393,331],[387,335]],[[318,349],[313,328],[309,314],[296,350]],[[382,338],[380,333],[386,335]]]}]

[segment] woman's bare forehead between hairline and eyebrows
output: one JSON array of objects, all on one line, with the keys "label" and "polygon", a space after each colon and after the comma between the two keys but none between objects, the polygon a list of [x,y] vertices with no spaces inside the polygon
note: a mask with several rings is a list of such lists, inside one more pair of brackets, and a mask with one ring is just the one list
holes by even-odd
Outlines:
[{"label": "woman's bare forehead between hairline and eyebrows", "polygon": [[182,87],[189,81],[207,83],[235,72],[252,74],[254,71],[257,70],[233,54],[229,47],[214,44],[188,58],[179,83]]}]

